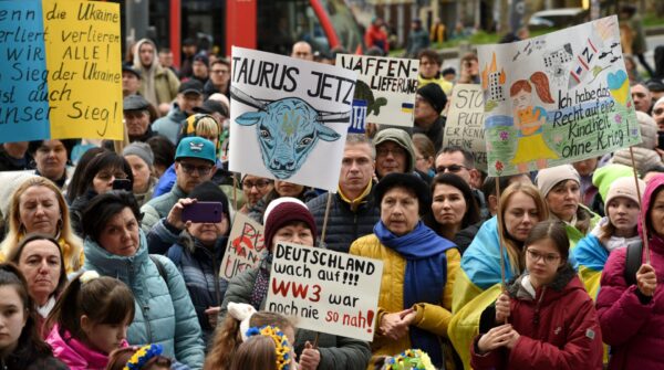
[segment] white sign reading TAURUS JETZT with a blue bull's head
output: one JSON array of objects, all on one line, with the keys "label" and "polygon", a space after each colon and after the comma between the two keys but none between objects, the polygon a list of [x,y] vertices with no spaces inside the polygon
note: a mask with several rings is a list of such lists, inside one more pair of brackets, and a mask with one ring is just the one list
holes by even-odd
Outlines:
[{"label": "white sign reading TAURUS JETZT with a blue bull's head", "polygon": [[231,63],[229,169],[335,192],[357,74],[235,46]]}]

